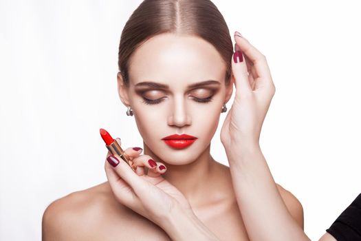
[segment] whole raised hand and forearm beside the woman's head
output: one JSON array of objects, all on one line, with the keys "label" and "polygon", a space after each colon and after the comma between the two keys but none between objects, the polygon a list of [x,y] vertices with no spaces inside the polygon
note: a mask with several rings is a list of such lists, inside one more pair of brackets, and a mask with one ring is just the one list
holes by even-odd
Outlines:
[{"label": "whole raised hand and forearm beside the woman's head", "polygon": [[[285,207],[259,146],[263,120],[275,93],[270,69],[265,56],[239,32],[234,33],[234,40],[245,61],[232,62],[237,92],[221,129],[221,142],[228,149],[243,222],[250,240],[309,240]],[[321,240],[333,238],[325,233]]]}]

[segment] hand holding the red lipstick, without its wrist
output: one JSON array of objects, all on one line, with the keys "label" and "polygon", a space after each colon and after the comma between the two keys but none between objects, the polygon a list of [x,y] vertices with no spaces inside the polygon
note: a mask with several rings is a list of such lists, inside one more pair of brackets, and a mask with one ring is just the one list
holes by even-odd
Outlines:
[{"label": "hand holding the red lipstick, without its wrist", "polygon": [[[120,145],[120,139],[116,140]],[[141,150],[135,151],[131,147],[124,151],[124,156],[133,160],[133,164],[137,166],[134,172],[118,155],[112,156],[108,151],[107,158],[111,156],[111,163],[118,163],[117,159],[119,161],[115,167],[109,160],[105,162],[105,172],[118,202],[160,226],[175,208],[191,213],[188,200],[161,176],[166,171],[159,168],[162,163],[152,167],[149,163],[151,156],[140,155],[140,152]],[[144,173],[144,167],[149,168],[147,174]]]}]

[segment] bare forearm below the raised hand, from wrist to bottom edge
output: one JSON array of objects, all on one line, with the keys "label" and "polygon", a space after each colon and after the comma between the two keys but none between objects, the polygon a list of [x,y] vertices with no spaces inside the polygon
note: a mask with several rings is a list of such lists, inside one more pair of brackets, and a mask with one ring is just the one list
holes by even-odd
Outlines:
[{"label": "bare forearm below the raised hand, from wrist to bottom edge", "polygon": [[[250,239],[309,240],[300,226],[303,218],[296,222],[283,202],[261,148],[232,150],[227,151],[232,183]],[[294,213],[300,211],[297,206]]]}]

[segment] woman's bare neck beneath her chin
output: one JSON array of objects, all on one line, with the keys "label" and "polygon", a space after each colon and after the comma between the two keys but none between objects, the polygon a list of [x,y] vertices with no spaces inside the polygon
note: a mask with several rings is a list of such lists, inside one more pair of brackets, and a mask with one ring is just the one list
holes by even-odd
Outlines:
[{"label": "woman's bare neck beneath her chin", "polygon": [[207,199],[206,193],[212,189],[215,180],[216,161],[210,156],[210,145],[195,160],[184,165],[172,165],[156,156],[144,143],[144,154],[166,165],[163,178],[168,180],[187,198],[192,207],[199,207]]}]

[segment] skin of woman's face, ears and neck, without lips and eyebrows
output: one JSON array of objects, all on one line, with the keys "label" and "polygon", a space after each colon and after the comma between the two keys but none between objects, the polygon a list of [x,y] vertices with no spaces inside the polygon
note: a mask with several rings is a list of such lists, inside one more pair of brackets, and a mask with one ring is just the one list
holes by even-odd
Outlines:
[{"label": "skin of woman's face, ears and neck, without lips and eyebrows", "polygon": [[[221,107],[232,94],[232,88],[226,90],[224,85],[225,72],[221,56],[206,41],[162,34],[135,51],[129,70],[129,89],[122,86],[118,74],[120,99],[133,109],[143,138],[144,154],[165,164],[168,171],[162,176],[184,194],[192,207],[201,207],[205,201],[202,197],[213,193],[209,184],[215,176],[217,163],[210,156],[210,140],[217,130]],[[208,79],[218,81],[219,85],[195,90],[186,88],[191,83]],[[134,85],[147,80],[166,83],[171,90],[135,89]],[[209,103],[193,100],[194,97],[206,98],[213,90],[215,94]],[[166,98],[157,105],[146,105],[142,96],[153,100]],[[154,129],[158,131],[154,132]],[[198,139],[186,149],[175,150],[161,140],[175,133],[190,134]],[[208,200],[212,201],[212,198]]]}]

